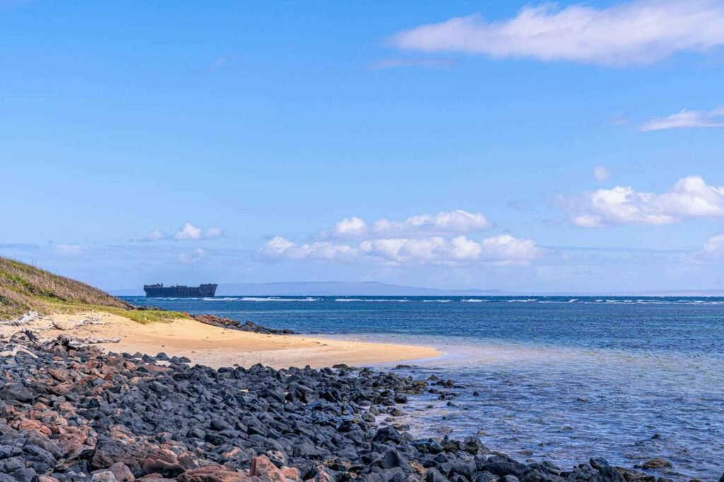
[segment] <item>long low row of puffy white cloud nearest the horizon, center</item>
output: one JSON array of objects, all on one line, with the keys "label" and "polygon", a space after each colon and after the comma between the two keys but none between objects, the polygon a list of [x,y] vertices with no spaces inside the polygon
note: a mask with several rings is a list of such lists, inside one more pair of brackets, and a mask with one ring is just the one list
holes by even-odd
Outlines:
[{"label": "long low row of puffy white cloud nearest the horizon, center", "polygon": [[526,264],[539,255],[531,240],[510,235],[488,237],[481,241],[458,236],[447,240],[442,236],[422,238],[376,238],[358,244],[312,242],[298,245],[283,237],[266,242],[259,253],[271,259],[376,261],[403,264],[462,263]]}]

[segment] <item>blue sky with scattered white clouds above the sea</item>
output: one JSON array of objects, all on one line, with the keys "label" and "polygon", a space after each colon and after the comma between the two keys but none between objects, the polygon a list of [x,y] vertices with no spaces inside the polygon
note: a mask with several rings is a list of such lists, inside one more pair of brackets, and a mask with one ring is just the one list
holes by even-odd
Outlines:
[{"label": "blue sky with scattered white clouds above the sea", "polygon": [[104,289],[724,289],[724,0],[0,0],[0,255]]}]

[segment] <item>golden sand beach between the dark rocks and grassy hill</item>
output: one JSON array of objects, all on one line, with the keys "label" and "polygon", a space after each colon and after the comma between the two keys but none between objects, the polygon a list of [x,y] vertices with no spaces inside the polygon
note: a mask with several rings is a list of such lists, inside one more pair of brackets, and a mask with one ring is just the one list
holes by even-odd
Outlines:
[{"label": "golden sand beach between the dark rocks and grassy hill", "polygon": [[[240,365],[244,367],[262,363],[274,368],[290,366],[313,368],[347,365],[375,365],[433,358],[442,353],[432,347],[406,344],[349,342],[304,335],[266,335],[230,330],[180,318],[171,323],[138,324],[122,316],[94,313],[98,324],[88,324],[70,330],[52,328],[53,321],[70,326],[75,321],[88,318],[88,313],[77,315],[58,314],[38,321],[30,327],[38,329],[43,338],[60,334],[80,339],[119,338],[117,343],[98,344],[113,352],[141,352],[156,355],[164,352],[169,356],[185,356],[192,363],[214,368]],[[0,333],[7,336],[21,328],[2,326]]]}]

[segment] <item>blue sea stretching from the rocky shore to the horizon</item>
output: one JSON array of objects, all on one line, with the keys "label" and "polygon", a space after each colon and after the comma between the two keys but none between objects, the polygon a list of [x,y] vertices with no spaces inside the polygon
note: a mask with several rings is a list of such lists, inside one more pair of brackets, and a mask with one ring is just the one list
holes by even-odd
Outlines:
[{"label": "blue sea stretching from the rocky shore to the horizon", "polygon": [[[674,480],[724,472],[724,299],[681,297],[127,298],[347,339],[429,344],[416,376],[466,386],[412,402],[418,435],[477,434],[570,468],[673,462]],[[473,397],[473,390],[480,392]],[[429,407],[432,405],[432,408]]]}]

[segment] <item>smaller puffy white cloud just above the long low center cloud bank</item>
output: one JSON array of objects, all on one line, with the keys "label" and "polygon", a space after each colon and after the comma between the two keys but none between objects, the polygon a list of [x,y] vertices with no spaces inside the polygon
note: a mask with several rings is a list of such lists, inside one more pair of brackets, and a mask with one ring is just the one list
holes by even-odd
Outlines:
[{"label": "smaller puffy white cloud just above the long low center cloud bank", "polygon": [[481,213],[462,209],[441,211],[435,215],[421,214],[404,221],[378,219],[369,226],[358,217],[342,219],[332,229],[319,234],[321,239],[361,239],[379,237],[430,237],[433,235],[465,234],[492,227]]}]

